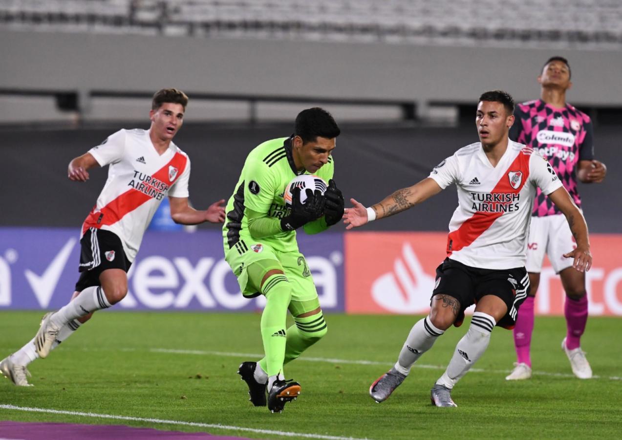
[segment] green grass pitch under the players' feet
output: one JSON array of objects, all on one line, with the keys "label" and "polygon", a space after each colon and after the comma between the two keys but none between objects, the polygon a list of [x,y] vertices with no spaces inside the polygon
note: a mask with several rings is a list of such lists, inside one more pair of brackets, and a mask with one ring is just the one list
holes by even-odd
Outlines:
[{"label": "green grass pitch under the players' feet", "polygon": [[[32,338],[42,313],[0,312],[0,358]],[[490,347],[454,388],[458,408],[435,408],[429,393],[468,328],[440,337],[381,405],[372,381],[395,362],[414,316],[327,315],[328,334],[285,368],[302,385],[282,414],[255,408],[237,367],[261,353],[259,314],[98,312],[45,360],[30,365],[30,388],[0,381],[0,405],[222,424],[274,432],[119,421],[0,408],[0,419],[127,424],[249,438],[277,431],[370,439],[619,438],[622,433],[622,320],[592,317],[583,336],[595,375],[571,376],[560,342],[563,317],[536,317],[534,377],[508,382],[512,333]],[[173,353],[167,350],[188,350]],[[195,350],[195,352],[190,352]],[[369,361],[369,363],[355,361]],[[560,373],[560,374],[556,374]],[[294,437],[298,438],[298,437]],[[302,438],[302,437],[300,437]]]}]

